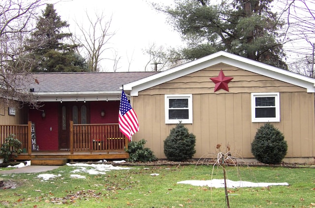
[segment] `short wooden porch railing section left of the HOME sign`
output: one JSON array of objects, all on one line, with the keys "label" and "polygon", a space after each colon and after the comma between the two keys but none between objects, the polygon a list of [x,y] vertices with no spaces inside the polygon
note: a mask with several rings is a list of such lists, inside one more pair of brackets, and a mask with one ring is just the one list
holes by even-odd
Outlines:
[{"label": "short wooden porch railing section left of the HOME sign", "polygon": [[31,152],[31,122],[28,125],[0,125],[0,146],[9,135],[14,134],[16,139],[22,142],[21,149]]}]

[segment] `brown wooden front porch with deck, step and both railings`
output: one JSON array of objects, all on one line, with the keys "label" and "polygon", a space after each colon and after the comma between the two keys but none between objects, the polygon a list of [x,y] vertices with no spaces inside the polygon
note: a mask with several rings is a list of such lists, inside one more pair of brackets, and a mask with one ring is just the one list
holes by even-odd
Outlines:
[{"label": "brown wooden front porch with deck, step and both railings", "polygon": [[32,164],[57,165],[67,160],[126,159],[128,139],[119,131],[118,124],[69,125],[69,148],[54,151],[35,150],[32,123],[28,125],[0,125],[0,145],[10,134],[22,142],[23,153],[16,160],[31,160]]}]

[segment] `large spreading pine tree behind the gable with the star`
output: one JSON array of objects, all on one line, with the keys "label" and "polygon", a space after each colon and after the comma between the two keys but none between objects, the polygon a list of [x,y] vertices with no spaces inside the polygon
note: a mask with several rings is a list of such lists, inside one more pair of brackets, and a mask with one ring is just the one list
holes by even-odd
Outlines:
[{"label": "large spreading pine tree behind the gable with the star", "polygon": [[273,0],[175,0],[159,7],[182,35],[187,47],[174,50],[172,59],[193,60],[226,51],[287,69],[277,31],[283,23],[270,10]]}]

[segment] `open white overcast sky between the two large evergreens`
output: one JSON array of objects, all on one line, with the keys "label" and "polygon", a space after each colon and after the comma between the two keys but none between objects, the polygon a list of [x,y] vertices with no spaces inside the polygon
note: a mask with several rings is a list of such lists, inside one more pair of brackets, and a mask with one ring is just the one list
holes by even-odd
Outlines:
[{"label": "open white overcast sky between the two large evergreens", "polygon": [[[111,31],[116,35],[111,39],[114,47],[121,56],[117,71],[144,71],[149,61],[143,55],[143,49],[150,45],[178,46],[180,36],[166,23],[166,16],[154,10],[149,2],[171,3],[172,0],[49,0],[55,3],[55,9],[62,20],[70,24],[72,33],[75,31],[75,21],[84,21],[85,11],[91,15],[104,11],[106,19],[112,15]],[[74,31],[75,30],[75,31]],[[112,56],[112,53],[107,54]],[[132,59],[132,60],[131,60]],[[150,68],[153,65],[149,66]],[[102,62],[104,71],[113,71],[113,62]]]}]

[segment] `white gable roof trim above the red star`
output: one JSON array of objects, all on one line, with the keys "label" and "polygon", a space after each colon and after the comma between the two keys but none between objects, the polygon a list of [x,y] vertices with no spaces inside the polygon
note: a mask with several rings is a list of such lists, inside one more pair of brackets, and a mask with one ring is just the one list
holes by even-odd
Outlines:
[{"label": "white gable roof trim above the red star", "polygon": [[184,65],[162,71],[158,74],[128,83],[124,85],[124,90],[131,91],[131,96],[138,96],[138,92],[161,83],[179,78],[195,71],[224,63],[240,69],[245,69],[263,76],[268,76],[280,81],[284,81],[307,89],[307,92],[315,92],[315,79],[306,77],[291,71],[272,67],[254,60],[250,60],[238,55],[220,51],[203,58],[191,61]]}]

